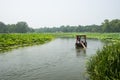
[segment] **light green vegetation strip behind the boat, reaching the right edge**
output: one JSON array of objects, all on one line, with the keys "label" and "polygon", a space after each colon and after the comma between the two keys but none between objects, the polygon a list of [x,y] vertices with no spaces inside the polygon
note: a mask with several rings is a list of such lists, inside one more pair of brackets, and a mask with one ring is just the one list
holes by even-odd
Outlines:
[{"label": "light green vegetation strip behind the boat, reaching the right edge", "polygon": [[119,41],[120,40],[120,33],[50,33],[55,37],[71,37],[75,38],[76,35],[87,35],[89,39],[100,39],[100,40],[107,40],[107,41]]}]

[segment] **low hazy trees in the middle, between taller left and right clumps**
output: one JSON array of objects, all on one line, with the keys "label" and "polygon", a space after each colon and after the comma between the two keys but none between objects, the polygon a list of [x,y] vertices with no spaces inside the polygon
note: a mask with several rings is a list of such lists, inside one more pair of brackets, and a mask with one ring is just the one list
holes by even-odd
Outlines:
[{"label": "low hazy trees in the middle, between taller left and right clumps", "polygon": [[60,26],[59,28],[39,28],[35,29],[36,32],[100,32],[101,26],[98,25],[87,25],[87,26]]}]

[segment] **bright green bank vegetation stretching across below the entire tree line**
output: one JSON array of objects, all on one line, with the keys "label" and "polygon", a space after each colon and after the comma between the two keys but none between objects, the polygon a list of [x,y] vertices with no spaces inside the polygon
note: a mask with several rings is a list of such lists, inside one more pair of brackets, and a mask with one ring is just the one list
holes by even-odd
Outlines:
[{"label": "bright green bank vegetation stretching across below the entire tree line", "polygon": [[18,47],[43,44],[53,38],[69,37],[75,38],[76,35],[87,35],[89,39],[100,39],[107,42],[119,42],[119,33],[26,33],[26,34],[0,34],[0,52],[11,50]]}]

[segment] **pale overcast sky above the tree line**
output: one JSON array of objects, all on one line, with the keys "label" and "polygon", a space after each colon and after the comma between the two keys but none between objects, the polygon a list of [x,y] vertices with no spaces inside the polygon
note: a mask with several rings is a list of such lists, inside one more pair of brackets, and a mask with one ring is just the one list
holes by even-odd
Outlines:
[{"label": "pale overcast sky above the tree line", "polygon": [[0,21],[30,27],[101,24],[120,19],[120,0],[0,0]]}]

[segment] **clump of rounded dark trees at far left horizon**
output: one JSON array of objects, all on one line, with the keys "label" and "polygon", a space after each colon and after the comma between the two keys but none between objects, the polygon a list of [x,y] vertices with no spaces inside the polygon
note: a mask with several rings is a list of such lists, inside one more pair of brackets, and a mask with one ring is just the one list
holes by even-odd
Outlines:
[{"label": "clump of rounded dark trees at far left horizon", "polygon": [[0,33],[27,33],[34,32],[34,29],[30,28],[26,22],[18,22],[17,24],[5,25],[0,22]]}]

